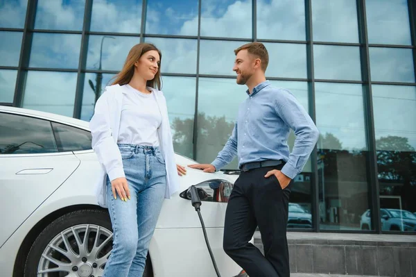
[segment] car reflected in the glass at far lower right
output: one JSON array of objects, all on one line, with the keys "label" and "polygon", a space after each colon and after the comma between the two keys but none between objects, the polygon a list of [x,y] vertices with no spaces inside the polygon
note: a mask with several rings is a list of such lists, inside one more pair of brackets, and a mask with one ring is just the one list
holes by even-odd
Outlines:
[{"label": "car reflected in the glass at far lower right", "polygon": [[[416,230],[416,215],[408,210],[382,208],[380,209],[380,215],[381,230]],[[360,226],[361,230],[372,230],[370,210],[366,210],[361,215]]]}]

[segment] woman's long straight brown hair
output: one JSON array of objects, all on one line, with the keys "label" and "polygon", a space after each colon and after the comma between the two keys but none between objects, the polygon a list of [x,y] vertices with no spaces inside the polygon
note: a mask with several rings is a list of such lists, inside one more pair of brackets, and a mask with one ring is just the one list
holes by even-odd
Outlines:
[{"label": "woman's long straight brown hair", "polygon": [[[155,50],[157,53],[159,53],[160,62],[162,62],[162,53],[159,49],[155,47],[155,45],[150,43],[139,43],[136,44],[132,49],[130,49],[130,52],[128,52],[128,56],[125,59],[123,69],[114,76],[115,80],[112,83],[112,85],[125,85],[130,82],[130,80],[133,77],[133,74],[135,73],[135,62],[139,60],[141,56],[143,56],[144,53]],[[157,90],[162,89],[162,78],[160,76],[160,63],[159,63],[159,69],[157,70],[157,73],[155,75],[155,78],[152,80],[148,80],[146,85],[148,87],[156,88]]]}]

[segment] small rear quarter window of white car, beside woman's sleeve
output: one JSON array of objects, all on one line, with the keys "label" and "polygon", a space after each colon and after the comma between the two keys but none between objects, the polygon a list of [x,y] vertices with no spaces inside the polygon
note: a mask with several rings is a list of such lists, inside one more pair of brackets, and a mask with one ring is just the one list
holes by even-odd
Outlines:
[{"label": "small rear quarter window of white car, beside woman's sleeve", "polygon": [[92,149],[89,131],[56,122],[52,122],[52,127],[60,152]]}]

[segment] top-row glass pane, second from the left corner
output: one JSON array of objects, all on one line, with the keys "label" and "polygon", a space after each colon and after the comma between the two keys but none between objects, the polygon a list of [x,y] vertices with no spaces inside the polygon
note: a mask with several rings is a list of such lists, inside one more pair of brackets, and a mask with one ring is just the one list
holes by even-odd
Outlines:
[{"label": "top-row glass pane, second from the left corner", "polygon": [[85,0],[37,0],[35,29],[83,30]]}]

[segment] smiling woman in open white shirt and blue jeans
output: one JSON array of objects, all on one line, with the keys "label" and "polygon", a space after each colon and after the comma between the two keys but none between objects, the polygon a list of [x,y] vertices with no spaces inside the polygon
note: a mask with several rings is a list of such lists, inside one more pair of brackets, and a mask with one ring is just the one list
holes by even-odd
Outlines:
[{"label": "smiling woman in open white shirt and blue jeans", "polygon": [[98,99],[90,121],[92,148],[101,163],[98,203],[108,208],[113,249],[104,276],[142,276],[148,245],[164,198],[179,188],[166,99],[162,54],[153,44],[128,53],[114,83]]}]

